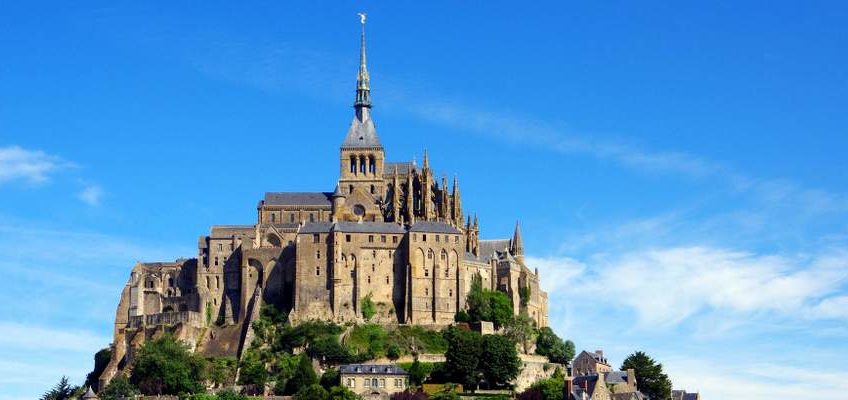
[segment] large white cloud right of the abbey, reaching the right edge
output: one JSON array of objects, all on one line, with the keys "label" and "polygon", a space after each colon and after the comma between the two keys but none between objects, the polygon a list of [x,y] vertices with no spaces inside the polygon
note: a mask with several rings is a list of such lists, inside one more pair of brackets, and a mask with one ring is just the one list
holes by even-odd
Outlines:
[{"label": "large white cloud right of the abbey, reaching the right edge", "polygon": [[[548,290],[567,285],[569,295],[603,293],[594,298],[634,310],[643,327],[674,326],[703,311],[848,316],[840,309],[848,302],[844,297],[828,298],[848,281],[845,251],[785,256],[675,247],[597,255],[585,263],[570,258],[531,261],[543,277],[555,277]],[[563,281],[562,275],[573,278]]]}]

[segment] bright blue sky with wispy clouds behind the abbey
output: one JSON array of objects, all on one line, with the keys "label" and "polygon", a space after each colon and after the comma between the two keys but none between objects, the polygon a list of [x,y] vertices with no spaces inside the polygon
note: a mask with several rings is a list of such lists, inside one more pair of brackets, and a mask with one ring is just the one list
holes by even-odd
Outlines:
[{"label": "bright blue sky with wispy clouds behind the abbey", "polygon": [[5,3],[0,399],[83,379],[136,260],[332,189],[361,10],[387,157],[521,221],[561,336],[843,396],[848,7],[679,3]]}]

